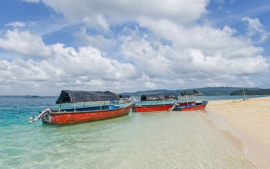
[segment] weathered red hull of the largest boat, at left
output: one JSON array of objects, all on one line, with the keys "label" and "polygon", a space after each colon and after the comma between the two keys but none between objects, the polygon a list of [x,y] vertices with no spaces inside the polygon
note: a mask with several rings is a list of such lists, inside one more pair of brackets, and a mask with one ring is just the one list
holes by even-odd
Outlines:
[{"label": "weathered red hull of the largest boat, at left", "polygon": [[70,124],[89,122],[108,118],[120,117],[129,114],[132,104],[108,110],[78,111],[78,112],[53,112],[48,118],[41,117],[42,123],[48,125]]}]

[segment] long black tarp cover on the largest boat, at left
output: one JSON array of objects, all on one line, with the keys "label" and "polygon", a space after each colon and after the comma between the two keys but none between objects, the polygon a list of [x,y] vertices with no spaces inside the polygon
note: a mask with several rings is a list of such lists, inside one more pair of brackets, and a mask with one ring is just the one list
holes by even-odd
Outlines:
[{"label": "long black tarp cover on the largest boat, at left", "polygon": [[62,90],[55,104],[60,103],[77,103],[85,101],[106,101],[120,100],[116,93],[110,91],[94,92],[94,91],[77,91],[77,90]]}]

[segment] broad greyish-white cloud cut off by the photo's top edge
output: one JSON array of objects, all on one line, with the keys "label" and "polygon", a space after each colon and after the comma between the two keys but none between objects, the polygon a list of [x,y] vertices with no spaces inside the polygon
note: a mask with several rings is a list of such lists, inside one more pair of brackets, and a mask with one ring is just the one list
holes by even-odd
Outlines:
[{"label": "broad greyish-white cloud cut off by the photo's top edge", "polygon": [[[30,0],[24,0],[30,1]],[[131,1],[131,0],[41,0],[55,11],[61,12],[70,21],[82,21],[86,17],[107,16],[110,23],[119,23],[120,20],[129,20],[138,16],[148,16],[153,19],[171,19],[177,22],[191,22],[207,13],[205,6],[209,0],[181,0],[181,1]],[[35,2],[32,0],[32,2]],[[38,2],[38,1],[36,1]],[[121,19],[122,18],[122,19]],[[86,19],[87,20],[87,19]],[[107,27],[108,21],[94,19],[98,24]],[[88,23],[88,22],[87,22]],[[104,24],[105,23],[105,24]]]}]

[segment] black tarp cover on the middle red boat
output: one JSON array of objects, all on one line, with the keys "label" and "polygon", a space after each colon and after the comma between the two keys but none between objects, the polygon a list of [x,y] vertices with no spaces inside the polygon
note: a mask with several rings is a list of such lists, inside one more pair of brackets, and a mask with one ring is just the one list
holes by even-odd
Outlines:
[{"label": "black tarp cover on the middle red boat", "polygon": [[144,94],[141,96],[141,101],[154,101],[154,100],[177,100],[176,93],[156,93],[156,94]]}]

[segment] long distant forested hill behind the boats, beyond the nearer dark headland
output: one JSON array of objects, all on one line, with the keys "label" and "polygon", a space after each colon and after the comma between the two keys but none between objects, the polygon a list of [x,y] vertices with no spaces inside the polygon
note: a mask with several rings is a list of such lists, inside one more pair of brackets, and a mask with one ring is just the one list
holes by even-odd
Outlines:
[{"label": "long distant forested hill behind the boats, beyond the nearer dark headland", "polygon": [[[205,88],[196,88],[196,89],[184,89],[184,90],[166,90],[166,89],[158,89],[158,90],[146,90],[146,91],[138,91],[133,93],[118,93],[118,94],[128,94],[129,96],[141,96],[143,94],[150,93],[176,93],[180,96],[182,92],[192,92],[192,90],[196,90],[199,93],[203,93],[204,96],[229,96],[235,90],[241,90],[241,87],[205,87]],[[261,88],[244,88],[244,89],[261,89]]]}]

